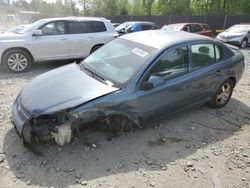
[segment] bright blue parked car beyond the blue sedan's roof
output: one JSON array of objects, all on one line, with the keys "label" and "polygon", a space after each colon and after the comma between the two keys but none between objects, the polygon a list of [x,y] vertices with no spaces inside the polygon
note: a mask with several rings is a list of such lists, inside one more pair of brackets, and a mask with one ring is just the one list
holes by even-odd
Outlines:
[{"label": "bright blue parked car beyond the blue sedan's roof", "polygon": [[115,28],[119,35],[153,29],[158,29],[158,26],[155,25],[155,23],[142,21],[124,22]]}]

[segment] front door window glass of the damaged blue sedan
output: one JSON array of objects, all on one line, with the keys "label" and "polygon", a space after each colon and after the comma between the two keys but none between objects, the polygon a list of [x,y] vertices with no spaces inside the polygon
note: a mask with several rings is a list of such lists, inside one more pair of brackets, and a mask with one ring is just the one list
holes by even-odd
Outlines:
[{"label": "front door window glass of the damaged blue sedan", "polygon": [[150,76],[159,76],[169,79],[188,71],[188,48],[180,47],[163,54],[151,69]]}]

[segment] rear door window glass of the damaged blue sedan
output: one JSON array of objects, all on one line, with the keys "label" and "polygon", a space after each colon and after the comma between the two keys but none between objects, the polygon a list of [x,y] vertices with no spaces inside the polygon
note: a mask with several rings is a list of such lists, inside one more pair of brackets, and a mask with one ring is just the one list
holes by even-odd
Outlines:
[{"label": "rear door window glass of the damaged blue sedan", "polygon": [[206,67],[215,62],[215,52],[213,44],[195,44],[192,50],[192,69]]}]

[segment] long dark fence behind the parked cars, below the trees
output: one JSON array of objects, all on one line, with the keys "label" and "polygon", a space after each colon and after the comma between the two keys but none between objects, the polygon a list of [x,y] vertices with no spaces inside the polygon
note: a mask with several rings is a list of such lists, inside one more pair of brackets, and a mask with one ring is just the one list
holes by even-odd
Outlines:
[{"label": "long dark fence behind the parked cars, below the trees", "polygon": [[181,22],[207,23],[211,28],[216,30],[224,30],[234,24],[250,23],[250,15],[113,16],[106,18],[110,19],[113,23],[122,23],[125,21],[151,21],[159,26],[171,23],[181,23]]}]

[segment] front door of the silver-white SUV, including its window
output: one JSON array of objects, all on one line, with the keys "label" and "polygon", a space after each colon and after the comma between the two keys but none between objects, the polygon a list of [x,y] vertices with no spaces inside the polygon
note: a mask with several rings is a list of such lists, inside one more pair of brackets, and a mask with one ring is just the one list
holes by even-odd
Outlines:
[{"label": "front door of the silver-white SUV, including its window", "polygon": [[68,58],[68,36],[65,21],[52,21],[39,28],[41,36],[32,37],[37,60]]}]

